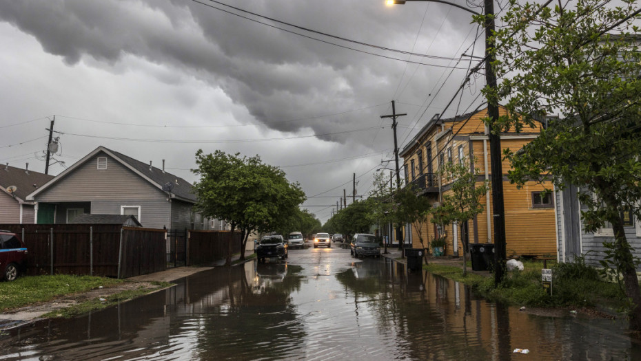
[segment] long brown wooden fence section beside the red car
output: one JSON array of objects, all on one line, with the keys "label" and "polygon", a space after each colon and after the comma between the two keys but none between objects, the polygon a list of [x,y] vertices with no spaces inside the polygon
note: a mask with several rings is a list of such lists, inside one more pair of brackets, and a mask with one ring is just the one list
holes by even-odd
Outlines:
[{"label": "long brown wooden fence section beside the red car", "polygon": [[1,224],[28,249],[27,273],[130,277],[166,270],[165,230],[118,224]]}]

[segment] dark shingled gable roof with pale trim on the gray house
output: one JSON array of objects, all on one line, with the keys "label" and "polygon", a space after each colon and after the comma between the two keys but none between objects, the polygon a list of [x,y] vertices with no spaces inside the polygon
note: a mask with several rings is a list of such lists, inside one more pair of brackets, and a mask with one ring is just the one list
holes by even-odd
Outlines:
[{"label": "dark shingled gable roof with pale trim on the gray house", "polygon": [[125,168],[129,168],[130,171],[134,172],[142,179],[145,179],[147,182],[152,184],[152,186],[158,188],[161,191],[163,191],[163,186],[165,184],[173,184],[173,188],[171,191],[172,199],[180,199],[183,201],[188,201],[190,203],[196,203],[196,195],[192,193],[192,184],[187,182],[185,179],[177,175],[164,172],[162,169],[150,166],[149,164],[145,164],[143,162],[140,162],[139,160],[134,160],[134,158],[129,157],[128,155],[112,151],[105,148],[104,146],[99,146],[88,155],[85,155],[85,157],[74,163],[69,168],[65,169],[65,171],[51,179],[49,182],[47,182],[47,184],[30,193],[27,198],[32,200],[33,197],[35,197],[37,194],[41,193],[46,188],[49,188],[53,184],[60,182],[61,179],[72,173],[76,168],[78,168],[82,164],[85,164],[85,162],[92,160],[94,156],[98,155],[101,152],[114,158],[114,160],[125,166]]}]

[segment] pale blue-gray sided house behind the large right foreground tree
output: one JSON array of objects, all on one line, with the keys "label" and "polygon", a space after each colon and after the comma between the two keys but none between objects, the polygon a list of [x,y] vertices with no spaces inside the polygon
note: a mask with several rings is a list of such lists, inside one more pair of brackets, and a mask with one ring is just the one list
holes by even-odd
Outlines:
[{"label": "pale blue-gray sided house behind the large right foreground tree", "polygon": [[[571,262],[575,256],[585,254],[589,265],[600,267],[604,256],[604,241],[613,241],[612,228],[601,228],[597,232],[585,232],[581,221],[584,208],[577,197],[578,188],[567,186],[564,190],[555,189],[558,261]],[[641,258],[641,221],[632,212],[623,215],[625,235],[632,246],[633,256]],[[637,268],[641,272],[641,267]]]}]

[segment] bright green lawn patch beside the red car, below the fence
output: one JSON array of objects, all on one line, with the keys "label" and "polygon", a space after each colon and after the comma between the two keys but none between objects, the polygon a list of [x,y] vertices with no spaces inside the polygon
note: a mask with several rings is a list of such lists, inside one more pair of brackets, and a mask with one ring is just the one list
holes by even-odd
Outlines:
[{"label": "bright green lawn patch beside the red car, below the fence", "polygon": [[12,282],[0,282],[0,311],[46,302],[65,294],[85,292],[100,286],[110,287],[122,280],[94,276],[23,276]]}]

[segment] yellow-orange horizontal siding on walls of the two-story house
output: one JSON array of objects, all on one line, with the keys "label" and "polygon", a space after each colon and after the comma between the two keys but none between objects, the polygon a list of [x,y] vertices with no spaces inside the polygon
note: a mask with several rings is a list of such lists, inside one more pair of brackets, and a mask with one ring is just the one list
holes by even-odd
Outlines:
[{"label": "yellow-orange horizontal siding on walls of the two-story house", "polygon": [[[505,113],[505,109],[500,108],[500,114],[503,115]],[[485,124],[483,123],[482,118],[486,115],[487,111],[482,111],[471,116],[467,122],[465,120],[445,122],[443,124],[444,130],[441,130],[440,125],[434,126],[433,129],[427,131],[425,135],[423,135],[423,138],[418,140],[414,146],[405,150],[403,153],[403,163],[408,164],[409,167],[411,160],[414,160],[414,164],[418,164],[418,152],[423,152],[423,159],[425,160],[425,144],[429,143],[431,144],[432,156],[434,157],[432,166],[434,173],[436,173],[438,172],[438,153],[444,153],[444,160],[445,162],[448,162],[449,158],[447,156],[447,149],[451,149],[451,160],[453,162],[457,162],[458,147],[462,146],[465,156],[469,157],[471,155],[471,157],[475,159],[474,167],[479,170],[480,175],[485,175],[483,141],[470,141],[469,136],[483,135],[485,132]],[[448,131],[447,129],[451,130]],[[436,135],[442,131],[447,133],[442,133],[443,136],[436,140]],[[539,131],[540,127],[537,126],[534,129],[524,129],[520,135],[504,135],[501,138],[502,149],[509,148],[512,151],[517,151],[525,144],[531,142],[532,139],[531,137],[524,138],[522,135],[536,135]],[[454,137],[454,133],[457,132],[458,134]],[[472,149],[470,149],[470,144]],[[487,142],[488,168],[490,157],[489,142]],[[502,168],[504,175],[507,174],[507,171],[510,169],[509,161],[502,161]],[[491,174],[489,169],[487,171]],[[418,176],[418,172],[416,172],[416,175]],[[409,177],[411,178],[411,172],[409,172]],[[547,187],[551,188],[551,184],[547,184]],[[532,207],[531,193],[543,189],[543,186],[536,184],[535,182],[529,182],[521,189],[517,189],[516,186],[509,184],[509,182],[503,182],[507,256],[549,256],[550,254],[556,254],[556,234],[558,232],[558,225],[555,226],[555,209]],[[447,193],[447,190],[445,193]],[[434,199],[434,201],[438,201],[438,199]],[[484,206],[486,205],[485,197],[482,197],[481,203]],[[474,219],[469,221],[470,243],[474,243],[475,241],[478,241],[479,243],[494,242],[492,239],[494,234],[491,233],[493,228],[491,224],[491,217],[489,224],[487,221],[488,212],[490,212],[491,215],[491,201],[489,208],[489,210],[486,209],[476,217],[476,228],[474,226]],[[488,227],[490,230],[489,239],[487,236]],[[445,226],[445,233],[447,236],[445,254],[447,255],[454,254],[453,228],[453,225]],[[418,241],[418,235],[416,227],[412,227],[413,246],[416,248],[421,247],[420,242]],[[434,227],[431,222],[428,221],[420,227],[420,235],[422,235],[424,239],[427,239],[425,243],[429,243],[429,240],[435,237]],[[460,250],[462,250],[460,237],[459,229],[459,254]]]}]

